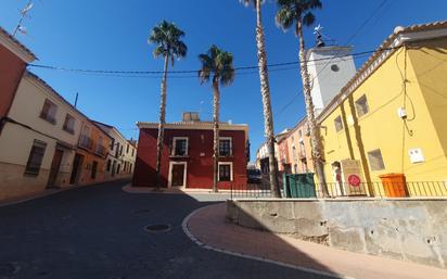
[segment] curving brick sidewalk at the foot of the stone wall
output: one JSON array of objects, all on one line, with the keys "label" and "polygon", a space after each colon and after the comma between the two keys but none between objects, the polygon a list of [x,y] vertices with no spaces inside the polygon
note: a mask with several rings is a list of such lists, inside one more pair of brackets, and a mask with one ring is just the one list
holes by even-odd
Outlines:
[{"label": "curving brick sidewalk at the foot of the stone wall", "polygon": [[184,219],[183,229],[204,248],[316,274],[357,279],[447,278],[444,269],[347,252],[230,224],[226,219],[225,203],[195,211]]}]

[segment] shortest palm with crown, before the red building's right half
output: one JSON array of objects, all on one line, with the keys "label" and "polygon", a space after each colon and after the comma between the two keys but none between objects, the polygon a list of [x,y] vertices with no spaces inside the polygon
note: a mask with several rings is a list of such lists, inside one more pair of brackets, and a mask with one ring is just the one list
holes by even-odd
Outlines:
[{"label": "shortest palm with crown, before the red building's right half", "polygon": [[201,84],[213,83],[213,130],[214,130],[214,173],[213,191],[217,192],[217,169],[219,167],[219,106],[221,86],[231,85],[234,80],[233,55],[213,45],[206,54],[200,54],[202,68],[199,71]]}]

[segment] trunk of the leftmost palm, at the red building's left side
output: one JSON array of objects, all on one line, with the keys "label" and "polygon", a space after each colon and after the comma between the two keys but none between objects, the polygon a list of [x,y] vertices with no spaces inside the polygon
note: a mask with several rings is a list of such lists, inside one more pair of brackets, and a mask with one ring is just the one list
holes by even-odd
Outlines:
[{"label": "trunk of the leftmost palm, at the red building's left side", "polygon": [[162,187],[161,169],[162,169],[162,154],[163,154],[163,140],[165,136],[165,122],[166,122],[166,85],[167,85],[167,69],[168,69],[169,56],[165,56],[165,67],[163,69],[161,101],[159,101],[159,123],[158,123],[158,137],[156,140],[156,185],[155,189],[159,190]]}]

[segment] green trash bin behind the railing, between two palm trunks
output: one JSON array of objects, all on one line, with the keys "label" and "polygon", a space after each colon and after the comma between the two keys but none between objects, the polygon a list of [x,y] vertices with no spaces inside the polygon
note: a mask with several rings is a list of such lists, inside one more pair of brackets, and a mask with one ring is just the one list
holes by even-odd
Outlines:
[{"label": "green trash bin behind the railing, between two palm trunks", "polygon": [[288,198],[316,198],[314,174],[285,175],[285,193]]}]

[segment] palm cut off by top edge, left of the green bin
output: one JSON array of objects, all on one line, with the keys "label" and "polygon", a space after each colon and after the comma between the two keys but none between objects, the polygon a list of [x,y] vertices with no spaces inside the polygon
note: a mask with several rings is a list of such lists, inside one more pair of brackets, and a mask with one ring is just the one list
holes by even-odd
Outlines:
[{"label": "palm cut off by top edge, left of the green bin", "polygon": [[280,186],[278,181],[278,163],[274,155],[274,130],[273,130],[273,115],[271,113],[271,102],[270,102],[270,85],[268,78],[267,68],[267,52],[264,36],[263,18],[260,13],[260,5],[263,0],[240,0],[245,5],[251,3],[254,4],[256,9],[256,45],[257,45],[257,59],[259,67],[259,79],[260,79],[260,94],[263,98],[263,112],[264,112],[264,134],[267,140],[267,149],[269,156],[269,178],[270,178],[270,190],[273,196],[281,198]]}]

